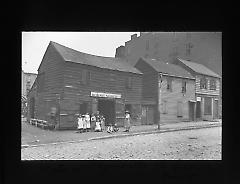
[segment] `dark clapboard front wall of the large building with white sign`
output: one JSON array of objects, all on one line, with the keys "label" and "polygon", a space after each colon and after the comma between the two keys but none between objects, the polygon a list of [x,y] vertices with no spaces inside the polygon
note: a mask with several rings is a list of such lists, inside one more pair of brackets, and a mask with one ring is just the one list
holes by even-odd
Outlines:
[{"label": "dark clapboard front wall of the large building with white sign", "polygon": [[[90,72],[89,82],[83,83],[83,71]],[[132,88],[126,88],[126,79],[131,77]],[[76,128],[75,113],[79,112],[80,103],[92,105],[90,92],[117,93],[122,95],[125,104],[141,106],[142,76],[128,72],[120,72],[97,68],[94,66],[65,62],[63,69],[63,100],[61,101],[61,128]],[[70,114],[71,113],[71,114]],[[141,122],[141,119],[138,120]],[[137,124],[134,122],[134,124]]]}]

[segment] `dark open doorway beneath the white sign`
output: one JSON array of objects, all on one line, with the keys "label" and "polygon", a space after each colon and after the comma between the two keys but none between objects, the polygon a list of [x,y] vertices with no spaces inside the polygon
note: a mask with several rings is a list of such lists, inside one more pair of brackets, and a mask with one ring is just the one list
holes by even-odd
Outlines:
[{"label": "dark open doorway beneath the white sign", "polygon": [[115,123],[115,101],[98,99],[98,111],[105,117],[105,125]]}]

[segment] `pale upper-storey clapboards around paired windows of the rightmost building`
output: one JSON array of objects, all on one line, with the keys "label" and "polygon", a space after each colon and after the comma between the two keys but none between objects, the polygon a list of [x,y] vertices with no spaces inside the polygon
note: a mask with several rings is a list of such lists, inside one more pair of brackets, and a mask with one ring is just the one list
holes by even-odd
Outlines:
[{"label": "pale upper-storey clapboards around paired windows of the rightmost building", "polygon": [[[220,95],[220,80],[213,77],[204,76],[207,79],[207,89],[200,89],[200,79],[203,75],[196,75],[196,93],[208,95]],[[216,90],[210,90],[210,79],[216,80]]]}]

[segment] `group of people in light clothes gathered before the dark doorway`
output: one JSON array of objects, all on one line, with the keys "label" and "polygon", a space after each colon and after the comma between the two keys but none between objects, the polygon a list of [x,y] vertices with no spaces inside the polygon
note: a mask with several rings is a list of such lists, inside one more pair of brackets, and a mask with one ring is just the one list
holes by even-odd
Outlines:
[{"label": "group of people in light clothes gathered before the dark doorway", "polygon": [[[78,116],[78,133],[82,132],[102,132],[106,129],[108,133],[117,132],[119,128],[117,127],[116,123],[110,123],[107,128],[105,128],[105,118],[103,115],[99,114],[97,111],[95,114],[90,115],[89,113],[86,114],[79,114]],[[129,132],[130,130],[130,112],[125,112],[125,120],[124,120],[125,131]]]}]

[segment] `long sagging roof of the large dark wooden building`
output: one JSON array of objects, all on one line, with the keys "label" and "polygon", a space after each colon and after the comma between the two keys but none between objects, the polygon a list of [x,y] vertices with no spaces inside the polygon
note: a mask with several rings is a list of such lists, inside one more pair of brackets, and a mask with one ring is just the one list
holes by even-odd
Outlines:
[{"label": "long sagging roof of the large dark wooden building", "polygon": [[139,70],[131,66],[125,60],[120,58],[113,57],[103,57],[103,56],[95,56],[91,54],[86,54],[83,52],[79,52],[77,50],[65,47],[55,42],[50,42],[59,54],[63,57],[65,61],[95,66],[99,68],[105,68],[110,70],[117,70],[122,72],[131,72],[136,74],[142,74]]}]

